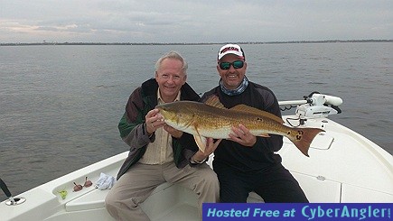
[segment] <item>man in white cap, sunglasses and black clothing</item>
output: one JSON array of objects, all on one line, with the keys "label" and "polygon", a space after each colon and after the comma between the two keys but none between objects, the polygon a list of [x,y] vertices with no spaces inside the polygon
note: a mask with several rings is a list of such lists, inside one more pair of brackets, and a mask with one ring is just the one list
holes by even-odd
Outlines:
[{"label": "man in white cap, sunglasses and black clothing", "polygon": [[[244,104],[281,118],[275,94],[246,77],[246,57],[237,44],[227,44],[218,53],[219,86],[206,92],[201,100],[220,98],[227,108]],[[247,202],[255,191],[265,202],[308,202],[304,191],[276,154],[283,137],[256,137],[240,124],[232,128],[228,140],[222,140],[214,152],[213,169],[220,181],[220,202]]]}]

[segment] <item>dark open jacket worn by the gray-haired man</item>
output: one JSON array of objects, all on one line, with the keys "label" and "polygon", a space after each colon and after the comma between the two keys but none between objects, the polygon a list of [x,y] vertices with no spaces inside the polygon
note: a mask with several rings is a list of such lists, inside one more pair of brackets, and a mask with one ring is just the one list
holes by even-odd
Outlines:
[{"label": "dark open jacket worn by the gray-haired man", "polygon": [[[137,87],[126,104],[126,112],[118,124],[120,136],[130,146],[126,161],[121,166],[117,180],[145,154],[148,143],[154,142],[155,136],[149,138],[146,132],[145,115],[157,105],[158,84],[154,78],[146,80]],[[181,100],[200,101],[199,95],[185,83],[181,88]],[[176,167],[182,168],[190,163],[192,155],[198,151],[191,134],[173,137],[173,159]]]}]

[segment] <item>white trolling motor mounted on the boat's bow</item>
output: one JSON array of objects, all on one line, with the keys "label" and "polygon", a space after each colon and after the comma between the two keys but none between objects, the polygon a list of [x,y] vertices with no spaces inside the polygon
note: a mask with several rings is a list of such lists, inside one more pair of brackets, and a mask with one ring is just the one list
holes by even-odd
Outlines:
[{"label": "white trolling motor mounted on the boat's bow", "polygon": [[339,106],[342,105],[342,98],[333,97],[313,92],[309,96],[304,96],[304,100],[282,101],[280,106],[297,105],[295,114],[300,119],[327,117],[342,113]]}]

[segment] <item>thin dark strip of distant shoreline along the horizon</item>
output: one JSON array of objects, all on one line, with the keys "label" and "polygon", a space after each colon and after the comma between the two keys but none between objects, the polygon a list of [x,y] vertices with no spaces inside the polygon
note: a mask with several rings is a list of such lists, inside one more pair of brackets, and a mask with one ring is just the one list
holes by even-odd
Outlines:
[{"label": "thin dark strip of distant shoreline along the horizon", "polygon": [[[324,41],[244,41],[238,44],[278,44],[278,43],[337,43],[337,42],[393,42],[393,40],[324,40]],[[224,44],[228,42],[202,42],[202,43],[131,43],[131,42],[35,42],[35,43],[0,43],[0,46],[31,46],[31,45],[207,45]],[[233,42],[232,42],[233,43]]]}]

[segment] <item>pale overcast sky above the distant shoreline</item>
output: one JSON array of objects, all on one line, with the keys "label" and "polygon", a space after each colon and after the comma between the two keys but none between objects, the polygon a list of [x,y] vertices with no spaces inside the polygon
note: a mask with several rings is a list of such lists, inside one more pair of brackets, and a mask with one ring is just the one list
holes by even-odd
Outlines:
[{"label": "pale overcast sky above the distant shoreline", "polygon": [[0,42],[392,40],[392,0],[0,0]]}]

